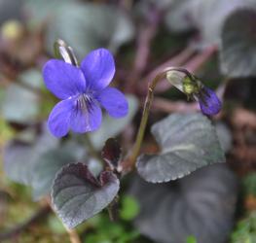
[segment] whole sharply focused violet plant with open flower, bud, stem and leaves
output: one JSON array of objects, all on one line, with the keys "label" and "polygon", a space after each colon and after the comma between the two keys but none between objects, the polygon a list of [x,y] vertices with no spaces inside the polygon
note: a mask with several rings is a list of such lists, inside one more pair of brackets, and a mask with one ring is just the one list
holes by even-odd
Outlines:
[{"label": "whole sharply focused violet plant with open flower, bud, stem and leaves", "polygon": [[[56,137],[66,135],[69,129],[78,133],[97,129],[101,123],[100,105],[113,118],[128,114],[125,95],[108,87],[115,73],[110,52],[105,49],[90,52],[81,67],[72,49],[63,41],[55,43],[55,54],[64,61],[48,61],[43,76],[46,86],[62,100],[55,105],[48,121]],[[84,162],[59,165],[55,179],[51,178],[51,196],[55,212],[65,226],[78,226],[104,208],[108,208],[111,218],[116,218],[120,180],[130,170],[136,168],[148,182],[163,183],[182,178],[203,166],[225,161],[214,126],[201,114],[172,114],[153,125],[152,133],[162,152],[140,155],[154,89],[165,78],[188,98],[198,100],[202,113],[214,115],[220,110],[216,94],[186,69],[170,67],[160,72],[149,84],[136,140],[127,156],[122,155],[118,141],[110,138],[102,150],[104,168],[98,176],[91,173],[87,164],[90,156]],[[89,154],[100,159],[90,138],[85,138],[87,149],[91,150]]]}]

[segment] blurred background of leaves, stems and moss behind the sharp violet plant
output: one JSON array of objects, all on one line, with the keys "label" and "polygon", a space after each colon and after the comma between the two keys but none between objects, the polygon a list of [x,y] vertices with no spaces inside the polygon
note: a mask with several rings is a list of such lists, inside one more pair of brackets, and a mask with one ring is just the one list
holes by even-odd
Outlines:
[{"label": "blurred background of leaves, stems and moss behind the sharp violet plant", "polygon": [[[58,141],[46,129],[56,99],[41,68],[60,38],[80,60],[100,47],[116,57],[114,85],[128,95],[129,114],[118,121],[104,116],[90,134],[97,151],[113,136],[128,151],[147,83],[166,66],[195,72],[224,102],[214,123],[228,166],[157,186],[130,175],[120,221],[110,223],[107,212],[93,217],[77,229],[83,242],[201,243],[203,231],[210,235],[203,243],[255,243],[255,20],[255,0],[0,0],[0,242],[70,242],[48,205],[55,173],[74,160],[94,174],[102,168],[81,137]],[[156,92],[150,125],[198,110],[165,83]],[[143,152],[158,150],[148,129]]]}]

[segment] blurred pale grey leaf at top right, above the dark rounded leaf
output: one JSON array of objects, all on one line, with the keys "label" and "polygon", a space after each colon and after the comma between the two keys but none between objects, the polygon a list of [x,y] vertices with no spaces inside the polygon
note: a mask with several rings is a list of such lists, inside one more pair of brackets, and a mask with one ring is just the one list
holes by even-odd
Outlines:
[{"label": "blurred pale grey leaf at top right, above the dark rounded leaf", "polygon": [[199,30],[202,47],[219,45],[226,17],[244,6],[256,7],[256,4],[250,0],[176,0],[165,23],[174,31]]}]

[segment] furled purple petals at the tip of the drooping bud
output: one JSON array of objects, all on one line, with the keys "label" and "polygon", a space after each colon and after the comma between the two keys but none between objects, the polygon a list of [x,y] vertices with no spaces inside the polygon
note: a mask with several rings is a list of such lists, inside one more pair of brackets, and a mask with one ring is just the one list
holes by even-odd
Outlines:
[{"label": "furled purple petals at the tip of the drooping bud", "polygon": [[221,102],[216,93],[208,87],[201,87],[199,93],[195,94],[200,103],[201,112],[204,115],[216,115],[221,109]]}]

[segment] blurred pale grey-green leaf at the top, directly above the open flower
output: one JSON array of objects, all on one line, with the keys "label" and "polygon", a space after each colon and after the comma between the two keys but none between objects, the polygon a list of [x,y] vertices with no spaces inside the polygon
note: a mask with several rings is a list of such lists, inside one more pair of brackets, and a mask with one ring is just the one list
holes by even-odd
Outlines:
[{"label": "blurred pale grey-green leaf at the top, directly above the open flower", "polygon": [[47,30],[47,48],[53,52],[55,40],[70,45],[80,60],[97,48],[115,52],[132,39],[133,25],[116,7],[96,4],[69,3],[58,8]]}]

